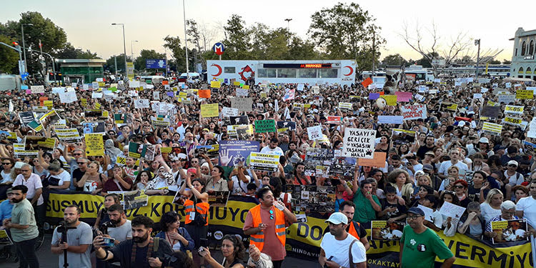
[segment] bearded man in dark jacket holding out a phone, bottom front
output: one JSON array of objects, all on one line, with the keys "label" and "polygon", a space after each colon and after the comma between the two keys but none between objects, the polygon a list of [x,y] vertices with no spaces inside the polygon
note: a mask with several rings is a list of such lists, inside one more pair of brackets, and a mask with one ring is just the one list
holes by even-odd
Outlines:
[{"label": "bearded man in dark jacket holding out a phone, bottom front", "polygon": [[109,262],[120,262],[121,267],[162,267],[169,262],[166,255],[171,256],[173,249],[165,240],[152,238],[153,230],[151,218],[137,216],[132,219],[132,239],[127,239],[111,249],[103,249],[104,239],[97,236],[93,240],[93,246],[97,259]]}]

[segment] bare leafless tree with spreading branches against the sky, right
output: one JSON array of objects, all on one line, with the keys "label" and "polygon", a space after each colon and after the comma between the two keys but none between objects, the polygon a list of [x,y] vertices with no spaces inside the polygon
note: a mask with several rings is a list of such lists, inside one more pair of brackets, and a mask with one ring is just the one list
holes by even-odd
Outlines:
[{"label": "bare leafless tree with spreading branches against the sky, right", "polygon": [[[410,33],[410,29],[407,24],[402,26],[403,33],[399,36],[404,39],[406,44],[413,50],[419,52],[425,61],[432,67],[434,76],[437,76],[438,69],[437,64],[432,64],[436,59],[445,59],[445,65],[450,65],[460,56],[464,51],[468,51],[472,45],[471,39],[467,38],[466,34],[462,32],[458,33],[455,39],[447,44],[440,44],[440,34],[437,31],[437,26],[432,23],[432,28],[429,29],[430,33],[430,46],[425,48],[425,40],[423,37],[422,29],[419,24],[415,26],[415,33]],[[443,49],[445,47],[445,49]],[[425,65],[422,64],[424,67]]]}]

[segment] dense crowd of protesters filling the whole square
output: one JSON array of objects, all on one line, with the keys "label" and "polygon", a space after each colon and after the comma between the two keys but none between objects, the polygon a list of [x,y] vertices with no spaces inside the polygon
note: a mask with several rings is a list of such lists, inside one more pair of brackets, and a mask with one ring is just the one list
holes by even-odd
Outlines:
[{"label": "dense crowd of protesters filling the whole square", "polygon": [[[279,268],[287,255],[285,228],[297,222],[287,186],[312,185],[332,187],[335,194],[334,207],[322,214],[329,228],[319,254],[319,263],[324,267],[365,267],[370,246],[363,225],[377,220],[407,224],[400,240],[402,267],[420,257],[427,259],[422,267],[430,267],[435,256],[445,259],[445,267],[452,264],[455,258],[437,232],[493,239],[497,232],[491,229],[491,222],[519,218],[528,223],[525,236],[534,234],[536,176],[532,171],[536,164],[532,156],[536,145],[527,127],[534,116],[534,101],[514,99],[504,103],[498,101],[497,94],[516,94],[525,89],[525,84],[513,85],[494,78],[483,83],[472,79],[460,83],[456,77],[441,81],[400,83],[389,77],[383,89],[363,86],[361,81],[351,86],[319,85],[319,89],[308,84],[249,81],[247,97],[252,98],[252,107],[239,114],[247,116],[246,124],[265,119],[295,124],[294,129],[253,131],[249,136],[238,137],[259,142],[259,152],[279,157],[277,171],[272,172],[255,170],[247,164],[222,163],[223,158],[228,158],[222,157],[222,152],[218,157],[197,150],[198,146],[237,138],[230,135],[232,128],[228,126],[232,123],[221,112],[224,107],[232,107],[232,98],[239,98],[239,86],[234,84],[223,83],[212,89],[209,98],[201,98],[192,89],[210,89],[202,82],[178,84],[169,79],[139,90],[129,88],[129,81],[108,77],[101,89],[84,90],[82,84],[77,85],[76,101],[69,103],[49,87],[44,94],[3,91],[0,129],[16,134],[16,139],[3,137],[0,144],[0,199],[9,198],[0,204],[3,228],[11,232],[21,267],[39,267],[31,255],[34,252],[22,249],[34,243],[32,239],[42,232],[49,193],[82,191],[104,197],[104,209],[94,222],[89,222],[92,226],[79,220],[80,208],[76,205],[64,209],[63,229],[54,230],[51,246],[51,252],[60,255],[60,267],[67,252],[73,267],[91,267],[91,256],[95,256],[97,267]],[[294,99],[285,96],[289,90],[294,92]],[[104,97],[93,94],[101,91],[106,91]],[[412,98],[386,105],[369,98],[369,94],[379,91],[382,95],[411,92]],[[36,129],[19,116],[34,111],[39,118],[44,97],[52,101],[50,109],[65,120],[64,126],[48,124]],[[164,114],[154,106],[136,108],[137,99],[172,108]],[[339,108],[341,102],[352,103],[352,108]],[[219,116],[202,116],[202,104],[218,104]],[[402,124],[379,123],[379,116],[403,115],[403,106],[409,104],[425,104],[427,115]],[[452,104],[457,106],[453,108]],[[509,114],[506,105],[521,106],[522,112]],[[482,115],[489,106],[498,107],[500,112]],[[84,113],[88,109],[107,111],[108,115]],[[124,121],[119,123],[116,114],[121,114]],[[339,116],[339,122],[328,121],[328,116]],[[169,121],[169,125],[155,124],[158,117]],[[504,123],[505,117],[519,118],[522,123]],[[56,134],[57,129],[98,121],[104,122],[102,155],[87,155],[83,129],[77,141],[66,142]],[[487,131],[483,129],[484,122],[500,124],[502,129]],[[324,139],[309,139],[307,128],[312,126],[322,126]],[[355,164],[344,171],[351,174],[349,177],[304,172],[310,149],[332,150],[337,157],[349,128],[376,131],[374,152],[385,153],[383,164]],[[399,129],[405,134],[399,134]],[[14,144],[24,144],[26,137],[34,136],[54,139],[54,147],[19,154]],[[134,157],[129,151],[132,143],[154,145],[154,157]],[[162,148],[167,147],[172,147],[172,153],[166,155]],[[176,212],[167,212],[157,223],[143,216],[126,219],[118,195],[113,192],[137,190],[147,195],[178,193],[184,202],[184,224],[183,216]],[[233,235],[224,236],[224,260],[217,262],[207,248],[207,213],[209,194],[221,191],[256,197],[259,204],[249,210],[243,226],[244,235],[249,236],[249,248],[246,250],[242,240]],[[27,202],[20,202],[21,198]],[[459,218],[441,214],[445,203],[465,208],[464,214]],[[423,208],[430,209],[431,216]],[[27,213],[15,217],[17,210]],[[30,214],[34,215],[33,221]],[[430,244],[415,246],[415,239]]]}]

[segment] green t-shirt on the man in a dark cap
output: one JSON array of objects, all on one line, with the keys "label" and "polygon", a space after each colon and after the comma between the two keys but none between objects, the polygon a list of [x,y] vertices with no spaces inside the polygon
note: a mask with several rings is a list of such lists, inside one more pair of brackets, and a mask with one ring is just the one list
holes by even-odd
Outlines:
[{"label": "green t-shirt on the man in a dark cap", "polygon": [[[404,245],[402,268],[435,267],[436,256],[440,259],[449,259],[454,256],[445,242],[430,228],[421,234],[416,234],[410,225],[406,225],[400,244]],[[419,262],[415,262],[416,259]]]}]

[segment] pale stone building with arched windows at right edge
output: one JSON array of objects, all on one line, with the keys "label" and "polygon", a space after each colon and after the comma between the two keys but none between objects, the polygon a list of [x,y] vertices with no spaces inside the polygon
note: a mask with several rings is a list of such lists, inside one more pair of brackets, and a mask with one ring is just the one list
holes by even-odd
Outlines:
[{"label": "pale stone building with arched windows at right edge", "polygon": [[536,80],[536,29],[525,31],[521,27],[517,28],[515,37],[510,41],[514,41],[510,66],[511,76]]}]

